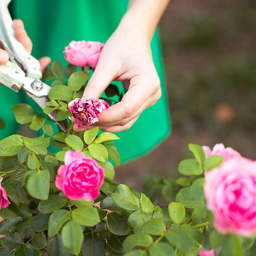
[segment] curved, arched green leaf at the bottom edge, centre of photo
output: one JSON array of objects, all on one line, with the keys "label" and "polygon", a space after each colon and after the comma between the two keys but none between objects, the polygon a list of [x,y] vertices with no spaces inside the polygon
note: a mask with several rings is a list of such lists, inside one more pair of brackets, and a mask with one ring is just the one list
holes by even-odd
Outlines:
[{"label": "curved, arched green leaf at the bottom edge, centre of photo", "polygon": [[135,246],[143,246],[148,247],[153,243],[153,238],[144,233],[136,233],[131,234],[127,238],[125,238],[123,242],[123,251],[129,252],[131,251]]}]

